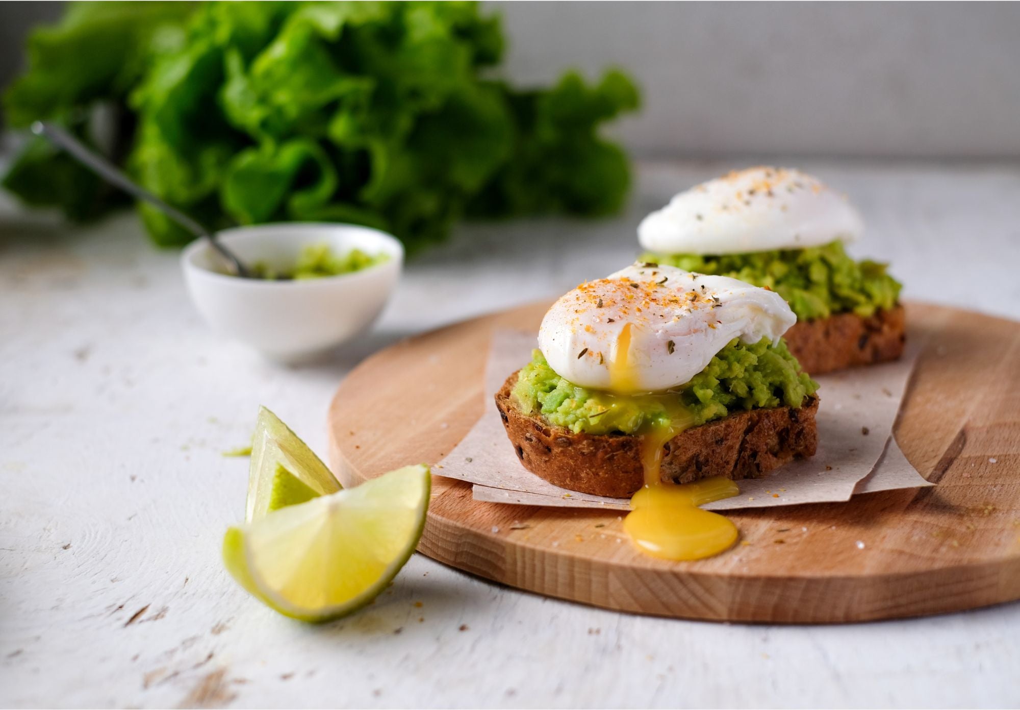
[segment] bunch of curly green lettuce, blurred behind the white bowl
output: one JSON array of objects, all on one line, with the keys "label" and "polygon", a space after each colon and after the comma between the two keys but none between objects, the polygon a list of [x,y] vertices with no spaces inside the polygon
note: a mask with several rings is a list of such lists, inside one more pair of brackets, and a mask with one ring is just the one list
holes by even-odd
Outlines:
[{"label": "bunch of curly green lettuce, blurred behind the white bowl", "polygon": [[[502,53],[499,18],[470,2],[91,3],[35,33],[5,105],[12,125],[88,139],[112,104],[106,152],[210,229],[352,221],[413,250],[465,215],[617,210],[628,165],[599,130],[638,107],[630,80],[519,90],[484,75]],[[47,170],[67,175],[49,195]],[[84,219],[113,204],[84,175],[37,144],[5,185]],[[158,244],[191,239],[140,210]]]}]

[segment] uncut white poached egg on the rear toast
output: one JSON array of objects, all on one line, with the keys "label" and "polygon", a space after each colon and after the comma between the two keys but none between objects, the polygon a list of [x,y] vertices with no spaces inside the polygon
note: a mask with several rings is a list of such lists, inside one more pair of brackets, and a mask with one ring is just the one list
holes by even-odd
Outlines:
[{"label": "uncut white poached egg on the rear toast", "polygon": [[817,247],[860,237],[863,222],[846,197],[800,170],[751,167],[674,196],[638,227],[660,254],[737,254]]}]

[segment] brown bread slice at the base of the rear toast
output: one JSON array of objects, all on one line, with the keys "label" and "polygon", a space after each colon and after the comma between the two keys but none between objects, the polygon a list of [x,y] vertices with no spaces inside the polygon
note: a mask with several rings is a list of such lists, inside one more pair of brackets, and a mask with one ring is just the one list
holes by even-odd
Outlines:
[{"label": "brown bread slice at the base of the rear toast", "polygon": [[790,354],[809,374],[896,360],[907,341],[903,306],[880,310],[863,318],[836,313],[827,318],[797,322],[783,338]]}]

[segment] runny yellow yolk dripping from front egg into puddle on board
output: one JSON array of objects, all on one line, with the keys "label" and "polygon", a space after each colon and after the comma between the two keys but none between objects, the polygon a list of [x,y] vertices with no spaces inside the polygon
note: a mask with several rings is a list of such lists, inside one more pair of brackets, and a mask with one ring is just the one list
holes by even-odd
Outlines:
[{"label": "runny yellow yolk dripping from front egg into puddle on board", "polygon": [[[623,326],[609,361],[610,388],[621,395],[638,389],[629,357],[630,328],[630,323]],[[623,528],[642,552],[668,560],[698,560],[728,550],[736,542],[736,525],[698,506],[735,496],[740,489],[732,480],[719,476],[681,486],[664,484],[660,476],[664,447],[693,424],[692,417],[674,396],[639,396],[658,399],[669,421],[641,435],[645,486],[630,499],[631,511],[623,520]]]}]

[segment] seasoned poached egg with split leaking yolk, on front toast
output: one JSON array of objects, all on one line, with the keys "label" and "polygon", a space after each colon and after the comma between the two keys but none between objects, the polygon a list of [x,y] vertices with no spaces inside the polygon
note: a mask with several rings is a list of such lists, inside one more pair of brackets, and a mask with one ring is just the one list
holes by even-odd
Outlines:
[{"label": "seasoned poached egg with split leaking yolk, on front toast", "polygon": [[773,342],[797,321],[776,293],[634,263],[581,284],[546,313],[539,348],[561,377],[616,394],[685,385],[733,338]]}]

